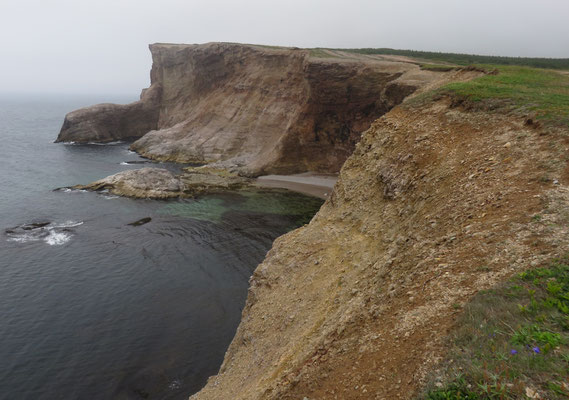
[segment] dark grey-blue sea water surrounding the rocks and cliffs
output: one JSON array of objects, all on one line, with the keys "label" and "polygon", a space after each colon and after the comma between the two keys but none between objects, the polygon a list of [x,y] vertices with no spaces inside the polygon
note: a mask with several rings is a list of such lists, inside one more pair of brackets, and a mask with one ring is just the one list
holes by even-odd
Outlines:
[{"label": "dark grey-blue sea water surrounding the rocks and cliffs", "polygon": [[66,112],[101,100],[132,99],[0,96],[0,398],[186,399],[217,372],[272,241],[321,205],[54,191],[148,166],[126,143],[53,143]]}]

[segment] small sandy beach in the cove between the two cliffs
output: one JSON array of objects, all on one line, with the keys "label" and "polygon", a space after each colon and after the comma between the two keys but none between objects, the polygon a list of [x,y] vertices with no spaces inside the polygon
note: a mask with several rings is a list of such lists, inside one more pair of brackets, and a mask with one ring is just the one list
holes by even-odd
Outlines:
[{"label": "small sandy beach in the cove between the two cliffs", "polygon": [[338,174],[304,172],[293,175],[263,175],[255,180],[257,187],[281,188],[326,200],[338,180]]}]

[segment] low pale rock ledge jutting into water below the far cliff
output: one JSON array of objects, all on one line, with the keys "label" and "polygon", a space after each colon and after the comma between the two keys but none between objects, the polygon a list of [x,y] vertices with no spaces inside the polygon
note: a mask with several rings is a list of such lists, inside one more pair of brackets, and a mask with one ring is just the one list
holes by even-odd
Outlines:
[{"label": "low pale rock ledge jutting into water below the far cliff", "polygon": [[225,170],[187,168],[183,174],[174,175],[162,168],[141,168],[119,172],[87,185],[76,185],[72,189],[106,191],[139,199],[168,199],[237,190],[249,185],[249,179]]}]

